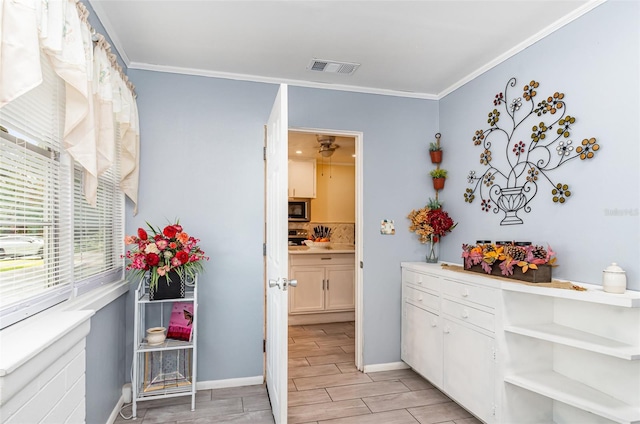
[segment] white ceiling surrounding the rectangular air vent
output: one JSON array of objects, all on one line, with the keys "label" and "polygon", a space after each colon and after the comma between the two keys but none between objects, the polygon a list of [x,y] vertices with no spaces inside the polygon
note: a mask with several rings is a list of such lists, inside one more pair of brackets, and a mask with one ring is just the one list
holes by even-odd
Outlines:
[{"label": "white ceiling surrounding the rectangular air vent", "polygon": [[89,3],[132,69],[438,99],[603,1]]}]

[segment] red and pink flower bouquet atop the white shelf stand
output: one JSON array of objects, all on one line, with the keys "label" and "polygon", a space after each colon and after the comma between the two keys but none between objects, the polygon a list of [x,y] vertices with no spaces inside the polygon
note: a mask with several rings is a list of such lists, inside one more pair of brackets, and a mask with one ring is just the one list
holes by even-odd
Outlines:
[{"label": "red and pink flower bouquet atop the white shelf stand", "polygon": [[149,272],[149,285],[155,289],[158,278],[167,276],[169,280],[168,274],[172,271],[183,279],[193,278],[204,269],[202,261],[209,258],[198,246],[200,240],[187,234],[182,225],[167,225],[162,231],[149,223],[147,226],[151,234],[138,228],[137,235],[124,238],[126,245],[134,246],[124,255],[129,260],[127,271],[133,271],[139,277]]}]

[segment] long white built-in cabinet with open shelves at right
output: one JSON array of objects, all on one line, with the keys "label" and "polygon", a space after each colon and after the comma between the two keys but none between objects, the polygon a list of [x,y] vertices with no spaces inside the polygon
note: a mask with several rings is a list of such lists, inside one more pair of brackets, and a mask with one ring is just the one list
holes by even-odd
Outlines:
[{"label": "long white built-in cabinet with open shelves at right", "polygon": [[403,262],[402,359],[484,422],[640,423],[640,293],[575,284]]}]

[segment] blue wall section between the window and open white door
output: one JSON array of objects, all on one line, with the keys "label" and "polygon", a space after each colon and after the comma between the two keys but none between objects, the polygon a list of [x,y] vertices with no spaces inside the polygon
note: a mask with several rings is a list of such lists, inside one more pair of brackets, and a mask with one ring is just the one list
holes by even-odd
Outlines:
[{"label": "blue wall section between the window and open white door", "polygon": [[136,70],[129,77],[141,162],[127,233],[178,218],[211,258],[199,280],[198,380],[262,375],[263,127],[278,87]]}]

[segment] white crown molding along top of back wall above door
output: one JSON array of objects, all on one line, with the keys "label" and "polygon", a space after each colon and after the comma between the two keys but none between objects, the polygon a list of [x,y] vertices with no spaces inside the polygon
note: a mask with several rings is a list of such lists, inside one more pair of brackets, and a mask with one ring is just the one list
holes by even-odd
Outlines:
[{"label": "white crown molding along top of back wall above door", "polygon": [[[152,65],[142,62],[131,62],[129,69],[139,69],[145,71],[167,72],[172,74],[195,75],[201,77],[223,78],[238,81],[263,82],[268,84],[287,84],[297,87],[321,88],[324,90],[351,91],[365,94],[379,94],[382,96],[411,97],[416,99],[437,100],[434,94],[414,93],[409,91],[385,90],[381,88],[357,87],[352,85],[329,84],[303,80],[289,80],[283,78],[264,77],[260,75],[235,74],[231,72],[216,72],[205,69],[183,68],[178,66]],[[310,71],[311,72],[311,71]]]}]

